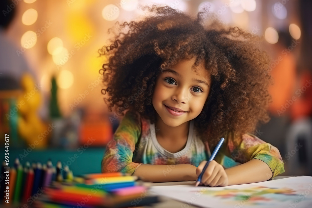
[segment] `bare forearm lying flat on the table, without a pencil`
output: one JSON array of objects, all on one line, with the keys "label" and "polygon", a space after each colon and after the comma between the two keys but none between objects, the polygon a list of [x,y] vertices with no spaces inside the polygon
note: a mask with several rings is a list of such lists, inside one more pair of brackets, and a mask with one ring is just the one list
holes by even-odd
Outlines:
[{"label": "bare forearm lying flat on the table, without a pencil", "polygon": [[137,167],[133,175],[148,182],[195,181],[197,178],[196,167],[191,164],[142,164]]}]

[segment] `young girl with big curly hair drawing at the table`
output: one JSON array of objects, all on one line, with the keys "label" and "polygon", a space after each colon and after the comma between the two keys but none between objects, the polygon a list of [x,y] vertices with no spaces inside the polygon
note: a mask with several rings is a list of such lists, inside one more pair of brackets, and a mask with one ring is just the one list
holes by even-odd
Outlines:
[{"label": "young girl with big curly hair drawing at the table", "polygon": [[[145,10],[146,7],[143,8]],[[196,180],[216,147],[201,185],[228,186],[271,180],[284,172],[277,148],[252,134],[268,122],[269,59],[260,38],[171,7],[124,22],[103,65],[105,102],[121,119],[107,144],[102,172],[145,181]]]}]

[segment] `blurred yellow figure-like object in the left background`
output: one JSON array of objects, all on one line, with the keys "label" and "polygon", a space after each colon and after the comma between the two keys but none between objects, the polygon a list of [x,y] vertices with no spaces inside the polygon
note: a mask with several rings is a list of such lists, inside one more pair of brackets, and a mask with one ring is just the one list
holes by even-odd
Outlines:
[{"label": "blurred yellow figure-like object in the left background", "polygon": [[49,135],[41,134],[48,131],[48,125],[41,121],[37,111],[41,104],[40,86],[36,85],[30,74],[24,74],[21,79],[23,93],[17,98],[21,104],[18,116],[18,133],[28,145],[44,148]]}]

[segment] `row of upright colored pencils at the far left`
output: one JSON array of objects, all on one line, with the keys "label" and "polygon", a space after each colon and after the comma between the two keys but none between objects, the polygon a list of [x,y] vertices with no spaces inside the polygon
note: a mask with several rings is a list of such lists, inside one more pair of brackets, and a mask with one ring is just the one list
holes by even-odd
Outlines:
[{"label": "row of upright colored pencils at the far left", "polygon": [[[6,167],[6,168],[5,168]],[[1,203],[7,205],[17,205],[20,203],[30,205],[44,192],[46,187],[50,186],[53,181],[73,181],[73,172],[69,167],[62,168],[60,161],[57,162],[56,167],[53,167],[51,160],[46,164],[40,162],[32,163],[26,162],[24,167],[20,164],[17,158],[14,167],[8,167],[5,162],[2,163],[0,185],[0,199]],[[6,182],[5,171],[9,170],[9,180]],[[8,186],[9,199],[4,195],[4,188]]]}]

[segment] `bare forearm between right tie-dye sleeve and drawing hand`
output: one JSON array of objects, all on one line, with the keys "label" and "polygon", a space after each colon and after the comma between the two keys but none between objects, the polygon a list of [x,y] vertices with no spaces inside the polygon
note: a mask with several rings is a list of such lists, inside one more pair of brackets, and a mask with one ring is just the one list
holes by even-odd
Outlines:
[{"label": "bare forearm between right tie-dye sleeve and drawing hand", "polygon": [[267,181],[273,175],[271,168],[259,159],[252,159],[244,164],[227,168],[225,172],[228,177],[228,186]]}]

